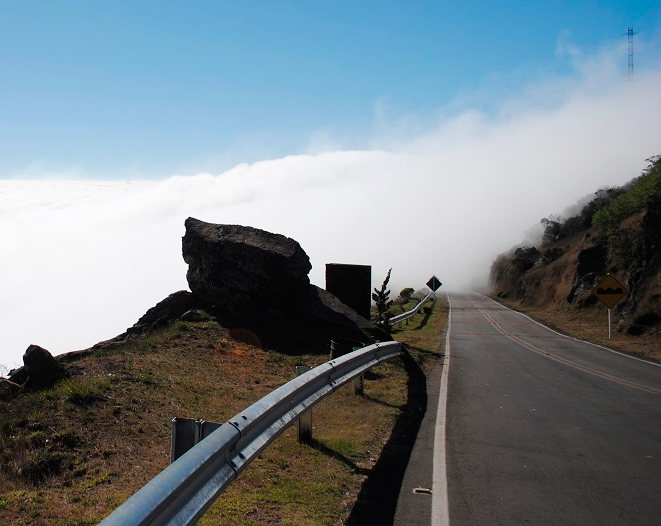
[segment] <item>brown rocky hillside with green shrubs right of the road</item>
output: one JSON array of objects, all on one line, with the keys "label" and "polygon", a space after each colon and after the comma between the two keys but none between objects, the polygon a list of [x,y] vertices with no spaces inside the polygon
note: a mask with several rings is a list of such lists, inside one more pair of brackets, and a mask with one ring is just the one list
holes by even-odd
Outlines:
[{"label": "brown rocky hillside with green shrubs right of the road", "polygon": [[[602,188],[567,218],[542,219],[535,245],[501,254],[494,298],[572,336],[661,361],[661,156],[619,188]],[[611,274],[629,290],[612,310],[592,294]]]}]

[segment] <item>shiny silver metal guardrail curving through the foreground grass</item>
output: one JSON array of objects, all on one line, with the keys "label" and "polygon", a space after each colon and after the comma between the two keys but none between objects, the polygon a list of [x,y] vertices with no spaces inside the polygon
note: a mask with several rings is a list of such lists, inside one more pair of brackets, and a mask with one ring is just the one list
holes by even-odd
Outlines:
[{"label": "shiny silver metal guardrail curving through the foreground grass", "polygon": [[240,412],[156,475],[100,526],[194,524],[299,415],[371,367],[403,354],[377,343],[321,364]]}]

